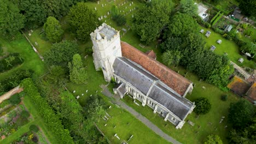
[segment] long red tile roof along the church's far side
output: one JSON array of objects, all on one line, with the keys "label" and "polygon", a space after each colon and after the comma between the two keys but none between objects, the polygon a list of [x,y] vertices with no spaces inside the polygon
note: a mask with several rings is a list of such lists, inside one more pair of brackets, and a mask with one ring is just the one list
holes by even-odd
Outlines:
[{"label": "long red tile roof along the church's far side", "polygon": [[149,57],[145,53],[123,41],[121,41],[121,50],[123,57],[141,65],[144,69],[158,77],[158,79],[180,95],[183,95],[192,83],[182,75],[179,75],[175,71],[167,68],[164,64],[161,64],[152,57]]}]

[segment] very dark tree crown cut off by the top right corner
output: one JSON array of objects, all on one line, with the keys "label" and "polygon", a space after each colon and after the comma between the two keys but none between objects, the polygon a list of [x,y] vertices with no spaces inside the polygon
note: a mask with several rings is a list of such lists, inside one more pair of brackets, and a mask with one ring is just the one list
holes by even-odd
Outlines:
[{"label": "very dark tree crown cut off by the top right corner", "polygon": [[256,2],[254,0],[238,0],[238,2],[243,14],[256,17]]}]

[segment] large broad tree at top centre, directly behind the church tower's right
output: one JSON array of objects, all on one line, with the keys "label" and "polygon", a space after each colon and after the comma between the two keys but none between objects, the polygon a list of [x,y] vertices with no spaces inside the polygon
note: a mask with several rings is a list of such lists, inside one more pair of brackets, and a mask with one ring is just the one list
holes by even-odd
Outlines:
[{"label": "large broad tree at top centre, directly behind the church tower's right", "polygon": [[154,0],[139,9],[133,17],[132,27],[141,41],[149,44],[159,38],[161,30],[169,22],[172,8],[172,1]]}]

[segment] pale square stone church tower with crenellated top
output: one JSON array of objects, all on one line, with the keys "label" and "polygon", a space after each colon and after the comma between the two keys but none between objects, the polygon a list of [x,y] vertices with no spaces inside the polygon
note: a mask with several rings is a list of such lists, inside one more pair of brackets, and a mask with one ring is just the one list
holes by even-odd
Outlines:
[{"label": "pale square stone church tower with crenellated top", "polygon": [[113,77],[113,63],[116,57],[121,57],[121,43],[119,31],[102,23],[100,27],[90,34],[92,44],[92,56],[96,70],[102,70],[104,79],[110,81]]}]

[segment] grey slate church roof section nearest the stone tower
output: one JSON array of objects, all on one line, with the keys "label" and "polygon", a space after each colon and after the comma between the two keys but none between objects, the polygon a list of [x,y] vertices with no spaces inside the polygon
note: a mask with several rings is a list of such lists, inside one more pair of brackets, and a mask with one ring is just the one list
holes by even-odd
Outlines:
[{"label": "grey slate church roof section nearest the stone tower", "polygon": [[155,76],[144,70],[138,64],[131,62],[125,57],[117,57],[113,64],[114,74],[131,83],[143,94],[147,94],[150,86],[156,80]]}]

